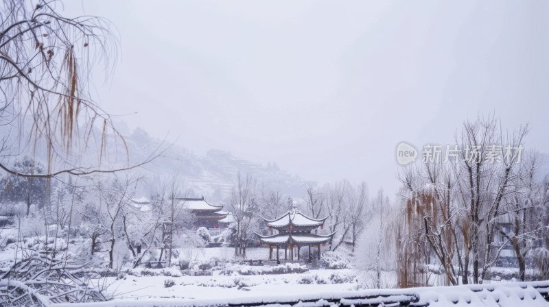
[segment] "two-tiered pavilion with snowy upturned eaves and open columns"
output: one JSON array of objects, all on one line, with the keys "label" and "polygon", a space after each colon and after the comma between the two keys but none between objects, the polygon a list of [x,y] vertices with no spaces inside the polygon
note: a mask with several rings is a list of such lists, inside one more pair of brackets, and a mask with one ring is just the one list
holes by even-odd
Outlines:
[{"label": "two-tiered pavilion with snowy upturned eaves and open columns", "polygon": [[[320,260],[320,245],[326,245],[335,233],[332,232],[326,235],[313,234],[312,231],[316,230],[316,228],[324,228],[324,221],[328,217],[324,219],[312,219],[295,207],[277,219],[268,220],[264,217],[261,218],[264,219],[269,230],[274,229],[278,232],[271,236],[255,233],[259,237],[259,244],[264,243],[266,247],[269,247],[269,260],[272,260],[273,249],[277,250],[277,263],[280,263],[280,247],[284,248],[284,260],[294,260],[295,254],[297,254],[297,260],[300,260],[299,251],[301,247],[309,247],[309,262],[312,260],[311,247],[318,247],[318,260]],[[288,255],[288,249],[290,249],[290,255]]]}]

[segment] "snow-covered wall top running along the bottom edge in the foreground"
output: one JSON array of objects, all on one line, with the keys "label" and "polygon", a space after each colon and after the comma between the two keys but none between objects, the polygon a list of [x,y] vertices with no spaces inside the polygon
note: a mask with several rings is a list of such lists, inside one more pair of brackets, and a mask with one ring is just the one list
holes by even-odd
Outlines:
[{"label": "snow-covered wall top running along the bottom edge in the foreground", "polygon": [[86,304],[53,304],[56,307],[254,307],[254,306],[549,306],[549,281],[391,290],[338,291],[303,295],[264,295],[231,299],[119,299]]}]

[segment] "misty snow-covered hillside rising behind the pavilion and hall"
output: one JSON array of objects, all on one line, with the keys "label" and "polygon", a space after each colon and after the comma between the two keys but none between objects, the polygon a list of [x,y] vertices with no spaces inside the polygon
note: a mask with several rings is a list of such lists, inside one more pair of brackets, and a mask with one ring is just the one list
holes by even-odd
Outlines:
[{"label": "misty snow-covered hillside rising behind the pavilion and hall", "polygon": [[[130,160],[146,160],[150,153],[162,147],[162,141],[153,138],[145,130],[137,128],[125,136]],[[267,165],[252,162],[233,156],[229,151],[211,149],[204,156],[199,156],[190,149],[178,145],[170,146],[159,158],[146,164],[142,173],[150,182],[142,193],[161,184],[163,179],[176,174],[182,183],[183,190],[189,190],[190,196],[205,196],[211,201],[224,201],[230,197],[233,182],[238,171],[243,175],[252,175],[258,188],[279,188],[283,195],[301,197],[307,186],[315,182],[303,180],[298,175],[279,169],[276,163]]]}]

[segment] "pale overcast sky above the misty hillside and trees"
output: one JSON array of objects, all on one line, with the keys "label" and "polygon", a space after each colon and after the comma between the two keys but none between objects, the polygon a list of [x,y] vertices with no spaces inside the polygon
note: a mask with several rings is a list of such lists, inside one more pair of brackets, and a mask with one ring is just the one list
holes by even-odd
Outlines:
[{"label": "pale overcast sky above the misty hillside and trees", "polygon": [[549,152],[548,1],[67,2],[118,29],[102,106],[197,153],[390,192],[399,141],[490,112]]}]

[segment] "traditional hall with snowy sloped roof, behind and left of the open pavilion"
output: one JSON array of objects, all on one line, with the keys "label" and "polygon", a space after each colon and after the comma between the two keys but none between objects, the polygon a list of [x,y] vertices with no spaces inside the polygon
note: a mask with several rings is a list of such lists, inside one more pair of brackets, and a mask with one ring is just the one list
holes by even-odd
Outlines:
[{"label": "traditional hall with snowy sloped roof, behind and left of the open pavilion", "polygon": [[200,198],[181,197],[177,200],[183,202],[183,208],[195,215],[196,227],[220,228],[219,221],[229,215],[229,212],[222,211],[223,205],[209,204],[203,196]]}]

